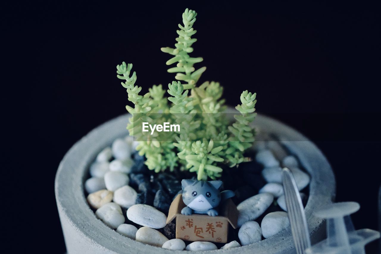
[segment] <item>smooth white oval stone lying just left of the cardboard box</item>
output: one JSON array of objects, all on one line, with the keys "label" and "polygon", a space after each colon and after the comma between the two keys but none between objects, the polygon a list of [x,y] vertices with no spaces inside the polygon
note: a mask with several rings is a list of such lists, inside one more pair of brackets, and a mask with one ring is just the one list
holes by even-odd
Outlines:
[{"label": "smooth white oval stone lying just left of the cardboard box", "polygon": [[150,228],[165,227],[167,219],[165,214],[146,204],[136,204],[128,208],[127,218],[138,225]]}]

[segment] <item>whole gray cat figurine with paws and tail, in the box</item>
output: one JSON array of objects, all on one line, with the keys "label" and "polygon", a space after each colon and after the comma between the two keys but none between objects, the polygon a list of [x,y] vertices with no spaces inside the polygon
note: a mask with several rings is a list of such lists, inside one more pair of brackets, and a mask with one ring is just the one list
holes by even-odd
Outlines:
[{"label": "whole gray cat figurine with paws and tail, in the box", "polygon": [[231,190],[220,192],[221,181],[197,181],[182,180],[182,201],[187,206],[181,210],[181,214],[191,215],[208,214],[209,216],[217,216],[216,208],[221,200],[226,200],[234,196]]}]

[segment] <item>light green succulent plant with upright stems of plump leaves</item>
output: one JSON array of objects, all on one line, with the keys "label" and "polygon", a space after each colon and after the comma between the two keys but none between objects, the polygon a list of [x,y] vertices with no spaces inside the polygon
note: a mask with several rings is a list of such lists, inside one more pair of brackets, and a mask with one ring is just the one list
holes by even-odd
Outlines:
[{"label": "light green succulent plant with upright stems of plump leaves", "polygon": [[[125,80],[122,86],[127,89],[128,100],[134,107],[126,106],[132,115],[127,129],[130,135],[139,140],[136,150],[146,157],[145,164],[150,170],[189,170],[197,173],[198,180],[221,177],[223,165],[234,167],[249,158],[244,152],[255,141],[255,130],[250,127],[254,121],[256,93],[247,90],[240,96],[241,104],[235,108],[235,122],[224,118],[223,87],[218,82],[204,82],[197,86],[206,67],[194,68],[201,57],[191,57],[191,47],[197,39],[192,38],[197,31],[193,25],[197,13],[186,9],[176,38],[175,48],[161,48],[173,57],[166,64],[176,63],[168,72],[176,73],[168,84],[168,98],[162,85],[154,85],[145,95],[139,95],[141,87],[135,85],[136,72],[131,74],[132,64],[123,62],[117,66],[117,77]],[[143,122],[171,121],[181,124],[179,132],[160,132],[150,135],[141,130]],[[226,168],[226,167],[224,167]]]}]

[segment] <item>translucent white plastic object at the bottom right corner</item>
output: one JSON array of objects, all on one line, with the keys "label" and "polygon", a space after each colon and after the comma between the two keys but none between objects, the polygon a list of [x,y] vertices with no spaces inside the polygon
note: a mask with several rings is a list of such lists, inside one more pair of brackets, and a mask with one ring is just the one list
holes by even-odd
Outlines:
[{"label": "translucent white plastic object at the bottom right corner", "polygon": [[307,254],[365,254],[365,245],[380,237],[371,229],[354,230],[350,214],[360,209],[359,203],[333,203],[317,209],[315,216],[327,219],[327,239],[306,249]]}]

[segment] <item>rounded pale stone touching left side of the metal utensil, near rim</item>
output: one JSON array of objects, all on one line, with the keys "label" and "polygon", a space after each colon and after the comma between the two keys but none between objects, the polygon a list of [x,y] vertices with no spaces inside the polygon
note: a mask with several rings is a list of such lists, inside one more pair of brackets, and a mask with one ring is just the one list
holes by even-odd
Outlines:
[{"label": "rounded pale stone touching left side of the metal utensil, near rim", "polygon": [[287,212],[270,212],[262,220],[262,235],[264,238],[269,238],[289,226]]}]

